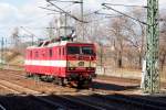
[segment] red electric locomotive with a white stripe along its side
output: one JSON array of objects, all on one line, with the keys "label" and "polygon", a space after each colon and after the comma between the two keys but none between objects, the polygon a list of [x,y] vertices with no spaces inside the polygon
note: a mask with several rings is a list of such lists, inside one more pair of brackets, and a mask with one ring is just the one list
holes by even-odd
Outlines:
[{"label": "red electric locomotive with a white stripe along its side", "polygon": [[89,87],[95,76],[96,51],[92,43],[44,41],[27,48],[24,65],[29,77]]}]

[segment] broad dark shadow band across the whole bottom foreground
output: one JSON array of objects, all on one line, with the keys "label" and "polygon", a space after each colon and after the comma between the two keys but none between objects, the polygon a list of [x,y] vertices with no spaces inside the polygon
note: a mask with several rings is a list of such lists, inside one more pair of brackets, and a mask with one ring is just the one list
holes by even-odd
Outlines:
[{"label": "broad dark shadow band across the whole bottom foreground", "polygon": [[[74,101],[68,101],[61,97],[66,97],[68,100],[72,99]],[[7,110],[166,110],[166,97],[153,97],[153,96],[121,96],[121,95],[91,95],[91,96],[38,96],[38,98],[48,99],[63,107],[51,106],[41,100],[34,100],[32,96],[14,96],[7,95],[0,96],[0,105],[6,107]],[[136,99],[137,103],[127,102],[126,100]],[[143,99],[148,99],[151,101],[144,101]],[[95,108],[89,108],[84,103],[80,105],[79,102],[84,101]],[[155,102],[158,101],[158,102]],[[159,103],[160,101],[160,103]],[[144,106],[144,105],[151,106]],[[155,107],[154,107],[155,106]],[[158,109],[157,109],[158,108]],[[162,108],[162,109],[159,109]],[[1,109],[0,109],[1,110]]]}]

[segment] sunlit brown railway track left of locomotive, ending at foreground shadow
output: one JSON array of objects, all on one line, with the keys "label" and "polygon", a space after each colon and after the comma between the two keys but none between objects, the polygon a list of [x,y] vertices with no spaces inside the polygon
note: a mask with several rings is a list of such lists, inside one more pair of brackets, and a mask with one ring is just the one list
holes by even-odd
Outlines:
[{"label": "sunlit brown railway track left of locomotive, ending at foreground shadow", "polygon": [[[65,95],[69,95],[69,94],[73,94],[73,92],[77,91],[75,88],[62,87],[62,86],[58,86],[54,84],[40,81],[38,79],[25,78],[25,74],[22,74],[22,73],[18,74],[17,72],[11,72],[11,70],[9,70],[9,72],[10,73],[6,76],[0,73],[1,79],[6,79],[11,82],[15,82],[17,85],[21,85],[23,87],[29,87],[30,89],[38,90],[40,92],[44,92],[44,94],[65,92]],[[8,72],[4,70],[3,73],[8,73]],[[29,82],[31,86],[28,85]]]}]

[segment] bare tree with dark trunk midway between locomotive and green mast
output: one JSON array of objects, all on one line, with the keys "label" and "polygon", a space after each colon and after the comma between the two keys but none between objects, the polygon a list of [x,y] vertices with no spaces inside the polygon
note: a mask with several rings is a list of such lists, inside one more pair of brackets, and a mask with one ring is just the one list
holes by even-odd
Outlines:
[{"label": "bare tree with dark trunk midway between locomotive and green mast", "polygon": [[111,34],[112,37],[114,37],[114,46],[115,46],[115,59],[117,67],[122,68],[123,67],[123,51],[124,51],[124,45],[125,41],[128,37],[126,33],[126,24],[128,24],[128,19],[126,18],[116,18],[112,19],[111,21]]}]

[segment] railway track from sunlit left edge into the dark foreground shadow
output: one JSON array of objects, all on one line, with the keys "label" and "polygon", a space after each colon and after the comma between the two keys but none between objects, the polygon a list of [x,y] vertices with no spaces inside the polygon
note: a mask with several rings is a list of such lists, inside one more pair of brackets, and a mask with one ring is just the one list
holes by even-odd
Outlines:
[{"label": "railway track from sunlit left edge into the dark foreground shadow", "polygon": [[33,100],[40,101],[42,103],[46,103],[55,109],[62,109],[62,110],[105,110],[104,108],[101,108],[98,106],[92,106],[87,103],[86,101],[79,101],[74,100],[73,98],[69,98],[66,96],[56,96],[52,95],[52,98],[46,98],[48,95],[41,94],[39,91],[24,88],[21,86],[18,86],[15,84],[11,84],[7,80],[0,79],[1,87],[9,88],[9,90],[12,90],[14,94],[20,95],[29,95]]}]

